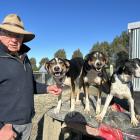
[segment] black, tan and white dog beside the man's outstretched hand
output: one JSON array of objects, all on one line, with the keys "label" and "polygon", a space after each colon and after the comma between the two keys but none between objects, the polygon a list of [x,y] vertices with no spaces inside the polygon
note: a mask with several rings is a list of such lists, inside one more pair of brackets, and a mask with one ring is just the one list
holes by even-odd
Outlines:
[{"label": "black, tan and white dog beside the man's outstretched hand", "polygon": [[[56,84],[61,87],[68,86],[71,89],[71,105],[70,111],[75,110],[75,95],[78,78],[83,66],[82,58],[73,58],[71,60],[62,58],[53,58],[45,64],[47,71],[53,76]],[[62,91],[63,92],[63,91]],[[62,94],[58,97],[58,105],[55,113],[59,113],[62,104]]]}]

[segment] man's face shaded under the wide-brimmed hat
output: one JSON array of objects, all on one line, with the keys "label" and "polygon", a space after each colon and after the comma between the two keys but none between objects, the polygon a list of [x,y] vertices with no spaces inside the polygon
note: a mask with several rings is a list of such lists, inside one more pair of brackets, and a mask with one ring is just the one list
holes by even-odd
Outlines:
[{"label": "man's face shaded under the wide-brimmed hat", "polygon": [[0,30],[0,42],[7,47],[10,52],[20,50],[24,35],[12,33],[6,30]]}]

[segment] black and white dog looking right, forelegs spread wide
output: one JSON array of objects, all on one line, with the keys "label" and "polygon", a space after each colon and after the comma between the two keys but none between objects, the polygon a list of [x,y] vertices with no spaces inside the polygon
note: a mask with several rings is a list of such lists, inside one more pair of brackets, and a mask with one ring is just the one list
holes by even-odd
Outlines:
[{"label": "black and white dog looking right, forelegs spread wide", "polygon": [[117,97],[119,99],[128,100],[131,114],[131,123],[134,126],[138,125],[139,122],[135,116],[133,99],[132,79],[134,77],[140,77],[140,60],[138,58],[127,60],[113,73],[110,81],[110,93],[106,98],[102,112],[96,116],[98,121],[103,120],[111,100],[113,97]]}]

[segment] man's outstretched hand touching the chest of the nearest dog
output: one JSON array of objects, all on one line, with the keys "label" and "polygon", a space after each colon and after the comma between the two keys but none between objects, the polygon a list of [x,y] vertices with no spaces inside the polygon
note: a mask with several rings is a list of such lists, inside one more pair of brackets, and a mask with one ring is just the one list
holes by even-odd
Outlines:
[{"label": "man's outstretched hand touching the chest of the nearest dog", "polygon": [[47,92],[53,94],[53,95],[60,95],[62,92],[61,87],[58,87],[57,85],[49,85],[47,87]]}]

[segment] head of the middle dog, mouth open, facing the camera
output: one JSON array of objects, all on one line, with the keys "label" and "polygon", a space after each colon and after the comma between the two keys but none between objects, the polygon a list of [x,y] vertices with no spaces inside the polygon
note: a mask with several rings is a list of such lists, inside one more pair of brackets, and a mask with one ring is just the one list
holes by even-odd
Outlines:
[{"label": "head of the middle dog, mouth open, facing the camera", "polygon": [[107,63],[106,56],[99,51],[93,51],[89,53],[86,57],[88,64],[93,67],[96,71],[101,71],[102,68]]}]

